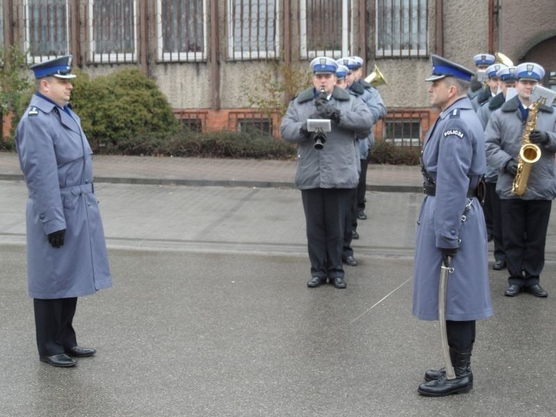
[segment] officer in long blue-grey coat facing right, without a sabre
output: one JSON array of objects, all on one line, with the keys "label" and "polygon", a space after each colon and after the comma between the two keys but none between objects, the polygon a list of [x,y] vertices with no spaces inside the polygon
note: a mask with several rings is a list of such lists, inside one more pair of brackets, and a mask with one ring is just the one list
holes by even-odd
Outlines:
[{"label": "officer in long blue-grey coat facing right, without a sabre", "polygon": [[15,145],[28,188],[28,293],[40,361],[76,365],[90,357],[72,326],[77,297],[111,286],[104,231],[92,185],[91,149],[70,107],[71,56],[31,66],[36,92]]}]

